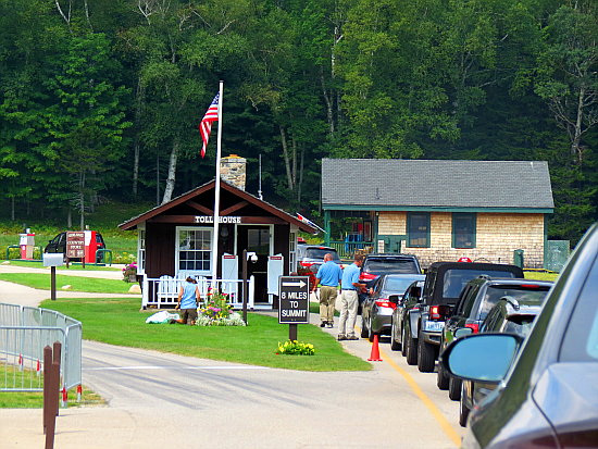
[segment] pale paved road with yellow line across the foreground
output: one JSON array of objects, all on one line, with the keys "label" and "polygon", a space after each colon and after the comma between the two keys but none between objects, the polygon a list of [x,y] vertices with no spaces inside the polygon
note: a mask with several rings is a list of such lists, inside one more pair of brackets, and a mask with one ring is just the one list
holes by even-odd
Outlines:
[{"label": "pale paved road with yellow line across the foreground", "polygon": [[[370,356],[366,340],[342,345]],[[306,373],[85,341],[84,383],[109,406],[61,411],[57,448],[456,447],[458,404],[381,349],[371,372]],[[39,410],[0,410],[0,448],[42,447],[40,423]]]}]

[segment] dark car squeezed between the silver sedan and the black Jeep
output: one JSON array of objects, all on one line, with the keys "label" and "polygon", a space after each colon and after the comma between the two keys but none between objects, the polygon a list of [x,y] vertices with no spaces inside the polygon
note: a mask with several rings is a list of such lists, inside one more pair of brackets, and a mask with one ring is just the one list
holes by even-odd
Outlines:
[{"label": "dark car squeezed between the silver sedan and the black Jeep", "polygon": [[394,351],[400,349],[403,357],[407,358],[407,363],[410,365],[418,363],[418,347],[416,342],[414,342],[416,340],[411,338],[410,329],[418,326],[418,304],[422,298],[423,288],[423,280],[416,280],[411,284],[393,312],[390,349]]}]

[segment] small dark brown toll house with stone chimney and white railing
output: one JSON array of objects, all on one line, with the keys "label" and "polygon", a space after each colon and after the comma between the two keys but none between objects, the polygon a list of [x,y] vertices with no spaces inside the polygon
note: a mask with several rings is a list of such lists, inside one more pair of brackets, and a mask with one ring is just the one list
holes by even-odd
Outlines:
[{"label": "small dark brown toll house with stone chimney and white railing", "polygon": [[[234,164],[240,166],[233,170],[236,177],[224,179],[225,169]],[[272,309],[277,304],[278,276],[296,270],[298,230],[314,233],[315,229],[245,191],[245,159],[223,158],[222,165],[219,288],[229,295],[233,307],[242,307],[242,253],[247,249],[257,257],[254,262],[247,262],[248,307]],[[198,278],[202,297],[208,292],[212,275],[214,192],[215,180],[212,180],[120,225],[121,229],[138,230],[137,261],[144,308],[174,307],[178,288],[189,275]]]}]

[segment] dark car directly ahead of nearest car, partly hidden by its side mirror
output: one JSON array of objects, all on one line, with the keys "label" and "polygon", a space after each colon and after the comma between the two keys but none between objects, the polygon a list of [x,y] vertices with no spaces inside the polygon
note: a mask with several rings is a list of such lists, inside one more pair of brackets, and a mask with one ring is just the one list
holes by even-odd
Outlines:
[{"label": "dark car directly ahead of nearest car, partly hidden by its side mirror", "polygon": [[[519,299],[512,296],[500,298],[479,326],[479,332],[500,332],[520,335],[525,338],[532,329],[536,315],[541,311],[546,294],[530,295],[528,297],[520,296]],[[456,377],[451,376],[451,378]],[[459,424],[464,427],[470,410],[488,396],[496,388],[496,384],[472,381],[460,381],[460,383],[462,386],[459,403]]]}]

